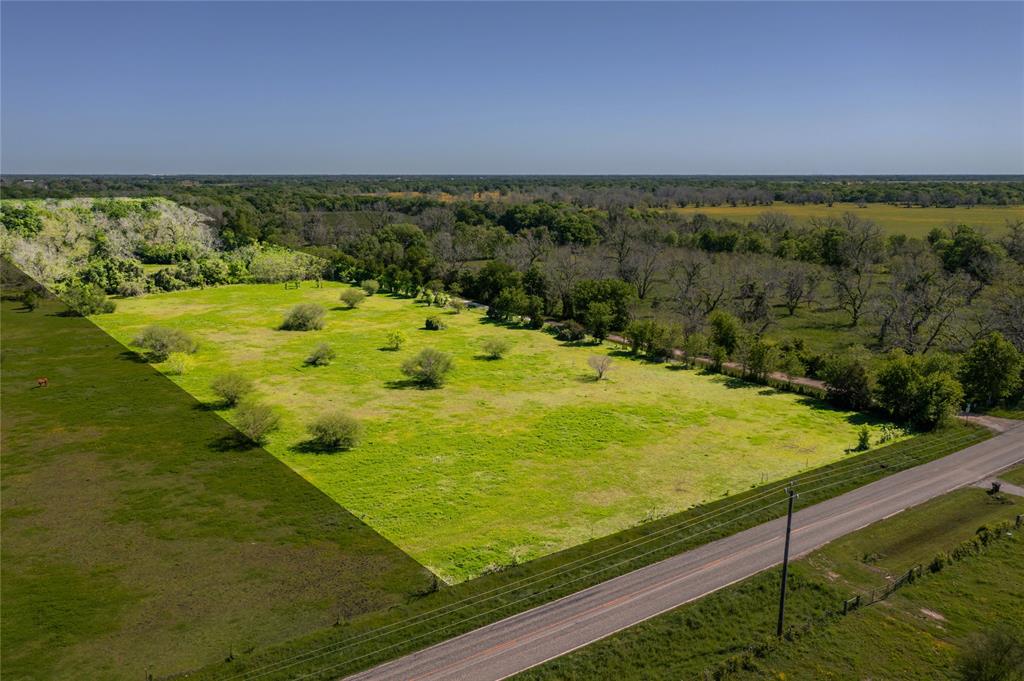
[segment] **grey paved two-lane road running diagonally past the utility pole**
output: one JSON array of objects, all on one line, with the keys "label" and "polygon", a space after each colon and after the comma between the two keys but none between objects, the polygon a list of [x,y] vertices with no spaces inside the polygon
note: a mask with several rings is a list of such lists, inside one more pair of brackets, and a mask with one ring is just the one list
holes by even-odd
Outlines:
[{"label": "grey paved two-lane road running diagonally past the utility pole", "polygon": [[[1024,427],[794,514],[792,555],[1024,461]],[[350,681],[497,681],[779,564],[779,518],[411,653]]]}]

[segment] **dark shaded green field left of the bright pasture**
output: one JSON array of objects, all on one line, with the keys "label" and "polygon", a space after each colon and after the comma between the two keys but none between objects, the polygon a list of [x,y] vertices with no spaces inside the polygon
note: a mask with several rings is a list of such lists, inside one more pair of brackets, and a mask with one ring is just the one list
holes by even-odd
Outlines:
[{"label": "dark shaded green field left of the bright pasture", "polygon": [[429,587],[274,457],[221,446],[222,419],[62,309],[0,312],[4,679],[163,677]]}]

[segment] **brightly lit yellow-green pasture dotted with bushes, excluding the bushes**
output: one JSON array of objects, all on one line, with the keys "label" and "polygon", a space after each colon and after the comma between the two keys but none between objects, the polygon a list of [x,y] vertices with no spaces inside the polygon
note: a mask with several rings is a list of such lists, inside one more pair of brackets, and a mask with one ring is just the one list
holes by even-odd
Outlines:
[{"label": "brightly lit yellow-green pasture dotted with bushes, excluding the bushes", "polygon": [[[345,309],[343,288],[151,295],[95,322],[126,344],[152,324],[191,334],[194,367],[174,381],[213,406],[215,376],[251,378],[282,415],[266,449],[450,582],[836,461],[870,423],[808,397],[489,324],[479,311],[383,295]],[[279,330],[299,302],[328,308],[323,330]],[[424,330],[438,313],[449,328]],[[408,343],[382,349],[393,330]],[[511,343],[505,358],[484,357],[490,337]],[[324,342],[337,358],[305,367]],[[413,387],[400,373],[425,347],[455,358],[441,388]],[[614,355],[607,380],[593,379],[595,353]],[[307,424],[332,409],[362,422],[362,440],[309,452]]]}]

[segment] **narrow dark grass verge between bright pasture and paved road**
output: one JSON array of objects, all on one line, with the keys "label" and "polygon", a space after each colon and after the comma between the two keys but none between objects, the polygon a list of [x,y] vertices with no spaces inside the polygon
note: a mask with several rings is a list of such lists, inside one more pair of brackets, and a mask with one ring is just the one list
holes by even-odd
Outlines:
[{"label": "narrow dark grass verge between bright pasture and paved road", "polygon": [[[806,507],[983,441],[950,424],[932,433],[792,478]],[[438,589],[404,606],[348,621],[262,652],[214,665],[197,679],[337,678],[536,607],[784,513],[777,482],[696,506],[528,563]]]}]

